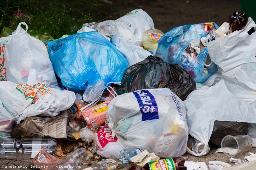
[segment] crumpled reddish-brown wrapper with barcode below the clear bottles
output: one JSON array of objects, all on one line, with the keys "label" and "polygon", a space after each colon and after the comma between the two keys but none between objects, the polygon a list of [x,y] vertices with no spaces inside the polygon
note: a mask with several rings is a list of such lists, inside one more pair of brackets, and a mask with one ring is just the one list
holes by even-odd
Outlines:
[{"label": "crumpled reddish-brown wrapper with barcode below the clear bottles", "polygon": [[32,161],[34,164],[33,166],[40,167],[41,170],[49,170],[52,169],[52,165],[60,161],[60,159],[52,156],[46,150],[41,149]]}]

